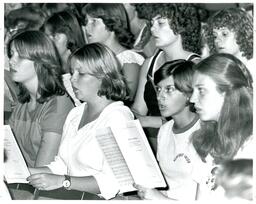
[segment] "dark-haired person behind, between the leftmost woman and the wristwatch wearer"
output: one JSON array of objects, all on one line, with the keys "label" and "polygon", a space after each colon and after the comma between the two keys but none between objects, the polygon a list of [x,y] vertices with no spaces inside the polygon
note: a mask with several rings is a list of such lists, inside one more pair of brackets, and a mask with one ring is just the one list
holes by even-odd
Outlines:
[{"label": "dark-haired person behind, between the leftmost woman and the wristwatch wearer", "polygon": [[44,23],[42,29],[54,42],[59,52],[64,69],[63,82],[65,88],[76,106],[81,102],[75,97],[70,78],[70,69],[67,61],[70,54],[77,48],[85,45],[81,26],[76,16],[69,10],[54,13]]}]

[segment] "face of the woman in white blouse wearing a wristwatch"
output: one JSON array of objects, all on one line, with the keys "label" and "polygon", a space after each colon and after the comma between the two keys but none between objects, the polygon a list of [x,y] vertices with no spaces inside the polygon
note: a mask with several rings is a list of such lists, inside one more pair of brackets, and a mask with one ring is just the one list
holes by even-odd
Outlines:
[{"label": "face of the woman in white blouse wearing a wristwatch", "polygon": [[78,60],[71,60],[71,83],[76,97],[81,101],[93,101],[101,86],[101,81],[86,70]]}]

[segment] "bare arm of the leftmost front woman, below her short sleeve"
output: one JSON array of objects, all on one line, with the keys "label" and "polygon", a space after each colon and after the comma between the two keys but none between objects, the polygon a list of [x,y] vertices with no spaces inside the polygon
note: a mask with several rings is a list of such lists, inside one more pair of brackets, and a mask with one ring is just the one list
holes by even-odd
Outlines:
[{"label": "bare arm of the leftmost front woman, below her short sleeve", "polygon": [[35,167],[50,164],[58,153],[61,141],[61,134],[55,132],[45,132],[41,139],[41,144],[37,153]]}]

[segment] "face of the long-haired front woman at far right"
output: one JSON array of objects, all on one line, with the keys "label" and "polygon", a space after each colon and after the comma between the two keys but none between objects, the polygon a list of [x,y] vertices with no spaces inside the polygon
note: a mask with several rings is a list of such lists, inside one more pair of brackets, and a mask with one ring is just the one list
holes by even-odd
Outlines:
[{"label": "face of the long-haired front woman at far right", "polygon": [[194,103],[201,120],[218,121],[224,98],[225,94],[217,90],[217,84],[212,78],[195,72],[190,102]]}]

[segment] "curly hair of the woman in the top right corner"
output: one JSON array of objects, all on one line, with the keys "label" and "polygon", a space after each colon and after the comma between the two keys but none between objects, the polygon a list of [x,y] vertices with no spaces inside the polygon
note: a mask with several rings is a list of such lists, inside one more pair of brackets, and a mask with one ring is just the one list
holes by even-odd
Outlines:
[{"label": "curly hair of the woman in the top right corner", "polygon": [[208,36],[211,53],[216,53],[213,29],[228,28],[235,32],[236,43],[242,55],[247,59],[253,57],[253,18],[239,8],[228,8],[216,12],[208,19]]}]

